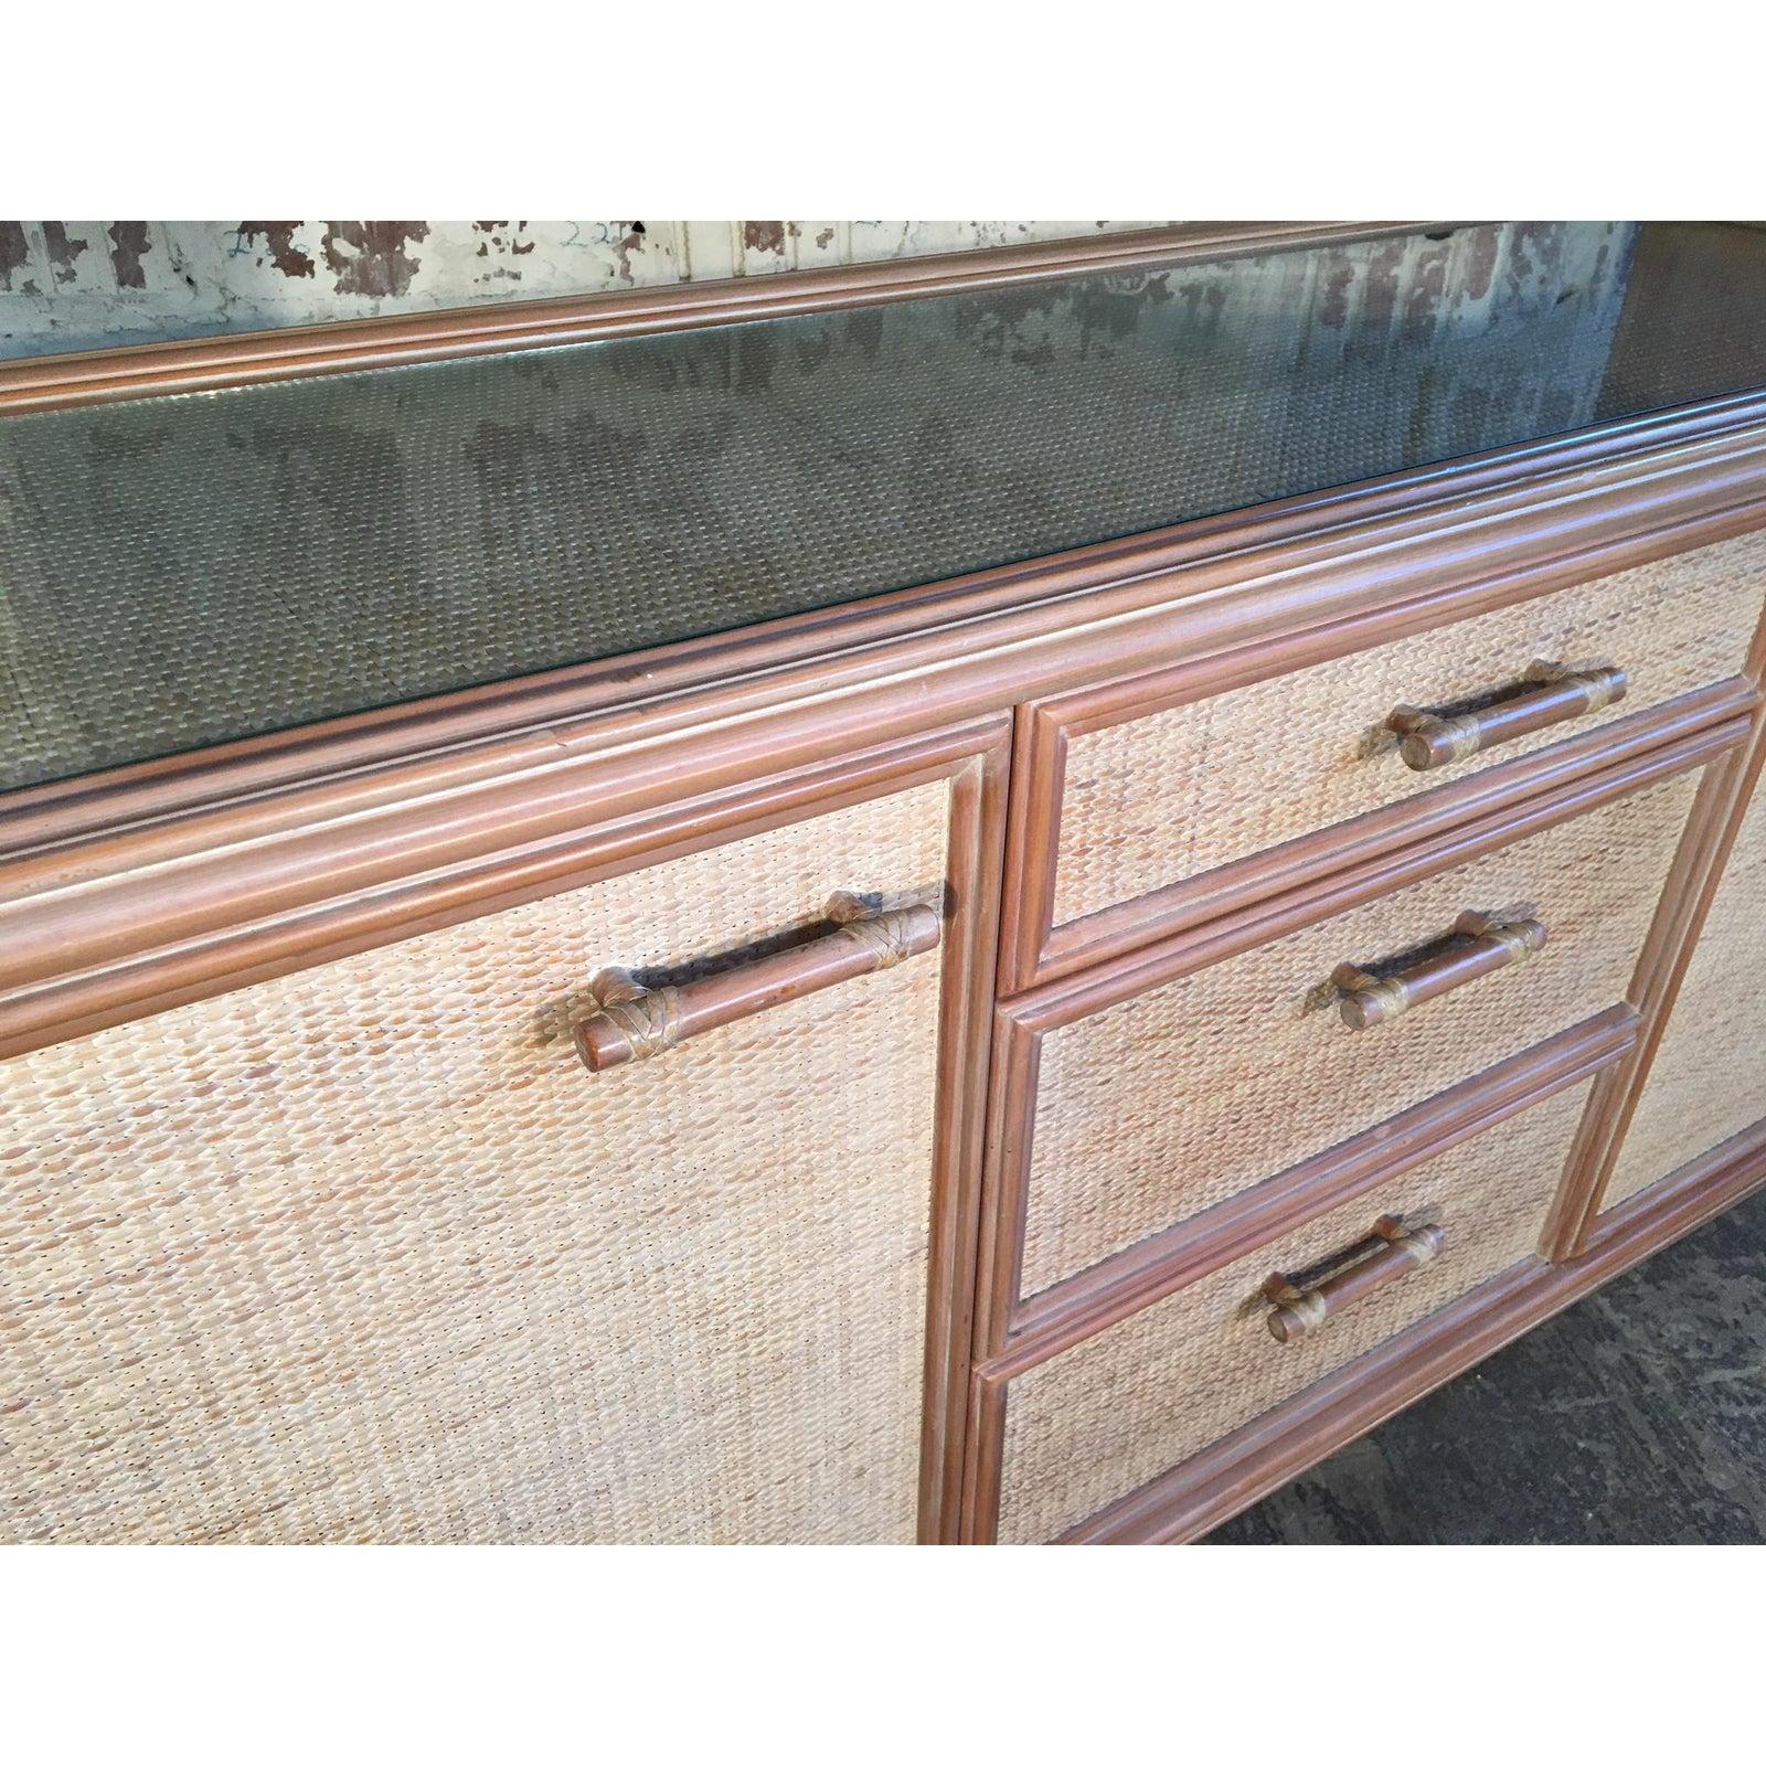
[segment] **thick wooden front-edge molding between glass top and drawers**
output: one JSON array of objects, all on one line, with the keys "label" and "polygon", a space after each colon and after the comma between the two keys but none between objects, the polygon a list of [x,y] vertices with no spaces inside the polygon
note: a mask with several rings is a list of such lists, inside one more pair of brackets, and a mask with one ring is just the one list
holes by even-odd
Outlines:
[{"label": "thick wooden front-edge molding between glass top and drawers", "polygon": [[[1233,544],[1213,528],[1118,551],[1077,567],[1093,586],[1054,560],[1028,572],[1047,590],[1030,604],[420,758],[351,770],[334,754],[323,779],[212,805],[21,793],[0,811],[0,1054],[473,911],[514,878],[544,890],[586,825],[641,839],[682,802],[712,814],[842,756],[964,740],[1125,669],[1277,634],[1298,648],[1379,611],[1420,618],[1460,588],[1468,611],[1503,604],[1762,523],[1766,424],[1323,532],[1298,521]],[[1118,577],[1128,558],[1153,567]]]}]

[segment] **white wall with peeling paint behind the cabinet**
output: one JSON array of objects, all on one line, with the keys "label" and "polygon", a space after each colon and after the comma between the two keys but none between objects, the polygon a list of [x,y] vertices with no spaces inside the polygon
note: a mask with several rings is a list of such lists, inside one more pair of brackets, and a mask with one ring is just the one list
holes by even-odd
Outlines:
[{"label": "white wall with peeling paint behind the cabinet", "polygon": [[761,275],[1155,221],[0,221],[0,355]]}]

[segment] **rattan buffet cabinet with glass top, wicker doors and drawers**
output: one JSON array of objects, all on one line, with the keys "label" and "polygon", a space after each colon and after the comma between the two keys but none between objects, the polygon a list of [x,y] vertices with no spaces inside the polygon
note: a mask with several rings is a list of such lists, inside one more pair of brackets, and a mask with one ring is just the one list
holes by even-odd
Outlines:
[{"label": "rattan buffet cabinet with glass top, wicker doors and drawers", "polygon": [[1634,223],[0,367],[0,1536],[1183,1540],[1747,1194],[1762,383]]}]

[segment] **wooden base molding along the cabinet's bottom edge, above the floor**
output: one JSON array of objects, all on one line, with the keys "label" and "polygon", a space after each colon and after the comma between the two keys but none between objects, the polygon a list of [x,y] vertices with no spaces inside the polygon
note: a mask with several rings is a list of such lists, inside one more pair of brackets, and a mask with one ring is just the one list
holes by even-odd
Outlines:
[{"label": "wooden base molding along the cabinet's bottom edge, above the floor", "polygon": [[[1762,1183],[1766,1123],[1612,1210],[1574,1263],[1529,1257],[1081,1522],[1061,1543],[1199,1538]],[[1000,1430],[1003,1393],[973,1402],[971,1425],[975,1420]]]}]

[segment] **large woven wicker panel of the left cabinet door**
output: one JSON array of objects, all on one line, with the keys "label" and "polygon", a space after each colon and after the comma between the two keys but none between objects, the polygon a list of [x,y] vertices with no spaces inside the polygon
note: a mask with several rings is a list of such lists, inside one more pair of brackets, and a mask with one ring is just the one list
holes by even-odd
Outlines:
[{"label": "large woven wicker panel of the left cabinet door", "polygon": [[940,957],[592,1075],[929,784],[0,1067],[0,1536],[911,1540]]}]

